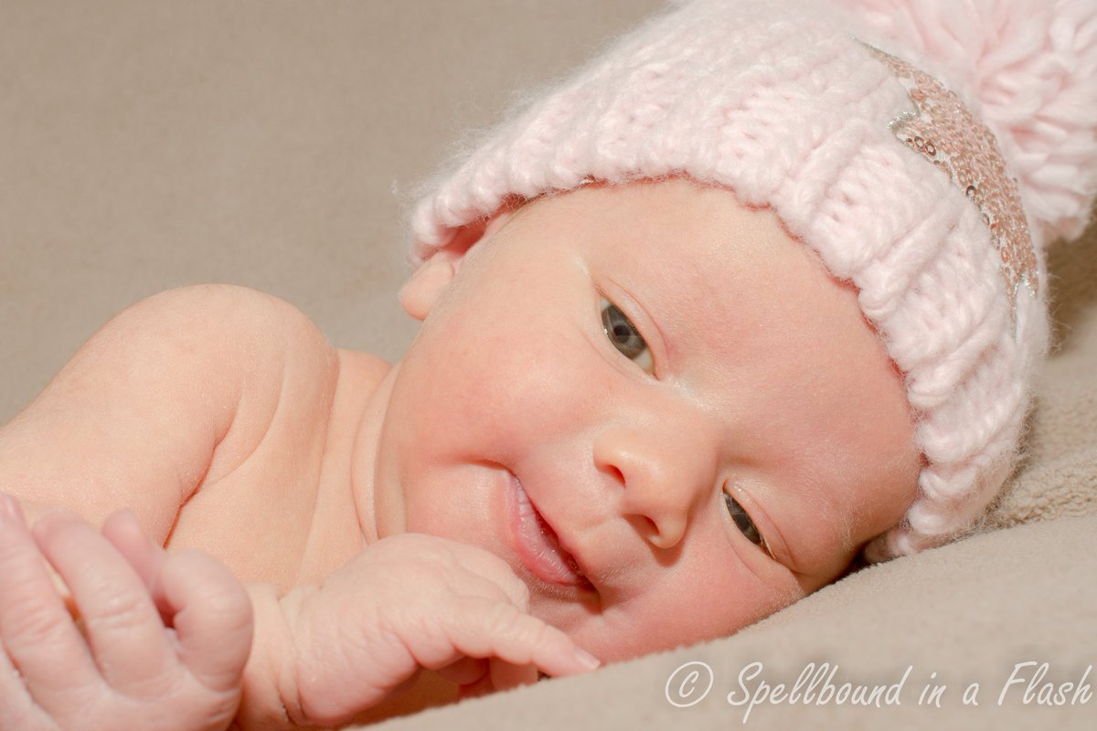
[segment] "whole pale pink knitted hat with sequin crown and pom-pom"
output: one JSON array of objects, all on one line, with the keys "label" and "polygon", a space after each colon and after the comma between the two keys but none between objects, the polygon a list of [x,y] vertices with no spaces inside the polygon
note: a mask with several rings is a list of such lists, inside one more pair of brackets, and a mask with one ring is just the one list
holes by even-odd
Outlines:
[{"label": "whole pale pink knitted hat with sequin crown and pom-pom", "polygon": [[693,0],[620,39],[422,201],[427,259],[505,203],[683,175],[768,206],[904,376],[919,490],[871,560],[979,519],[1048,339],[1044,243],[1097,191],[1097,0]]}]

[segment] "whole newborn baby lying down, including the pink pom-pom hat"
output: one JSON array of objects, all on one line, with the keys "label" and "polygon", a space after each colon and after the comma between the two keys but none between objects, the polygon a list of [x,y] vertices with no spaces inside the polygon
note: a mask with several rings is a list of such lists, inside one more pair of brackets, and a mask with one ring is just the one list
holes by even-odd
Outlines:
[{"label": "whole newborn baby lying down, including the pink pom-pom hat", "polygon": [[109,322],[0,430],[0,728],[362,720],[971,529],[1094,194],[1097,10],[1027,10],[999,83],[1017,38],[878,4],[678,3],[501,127],[419,208],[392,366],[236,287]]}]

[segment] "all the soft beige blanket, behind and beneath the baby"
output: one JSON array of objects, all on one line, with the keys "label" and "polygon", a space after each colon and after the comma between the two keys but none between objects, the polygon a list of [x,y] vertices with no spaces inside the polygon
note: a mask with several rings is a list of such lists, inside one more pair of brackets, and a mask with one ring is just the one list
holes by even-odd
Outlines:
[{"label": "all the soft beige blanket, behind and beneath the baby", "polygon": [[[335,343],[398,357],[414,183],[511,90],[657,4],[4,0],[0,421],[113,312],[181,284],[271,292]],[[1052,256],[1059,350],[985,535],[730,639],[383,728],[1097,728],[1095,261],[1093,228]],[[747,715],[762,682],[780,703]]]}]

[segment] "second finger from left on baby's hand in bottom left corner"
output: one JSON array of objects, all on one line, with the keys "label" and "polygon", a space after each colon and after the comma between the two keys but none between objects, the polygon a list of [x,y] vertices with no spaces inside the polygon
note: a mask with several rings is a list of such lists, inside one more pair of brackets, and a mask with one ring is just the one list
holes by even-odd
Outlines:
[{"label": "second finger from left on baby's hand in bottom left corner", "polygon": [[50,513],[34,526],[42,552],[68,584],[103,678],[127,695],[147,695],[150,678],[170,682],[174,664],[160,614],[148,590],[98,530],[70,513]]}]

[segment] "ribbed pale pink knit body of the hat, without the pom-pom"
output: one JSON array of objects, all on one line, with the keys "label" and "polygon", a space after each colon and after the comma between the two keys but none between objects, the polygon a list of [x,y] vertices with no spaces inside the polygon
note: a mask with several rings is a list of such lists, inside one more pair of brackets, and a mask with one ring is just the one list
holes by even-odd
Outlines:
[{"label": "ribbed pale pink knit body of the hat, without the pom-pom", "polygon": [[917,419],[918,496],[873,560],[969,529],[1013,470],[1047,346],[1050,230],[1030,238],[1030,194],[987,178],[999,152],[980,118],[943,113],[979,114],[963,80],[879,27],[816,0],[679,3],[497,129],[414,220],[425,259],[508,201],[591,180],[685,175],[772,208],[857,287]]}]

